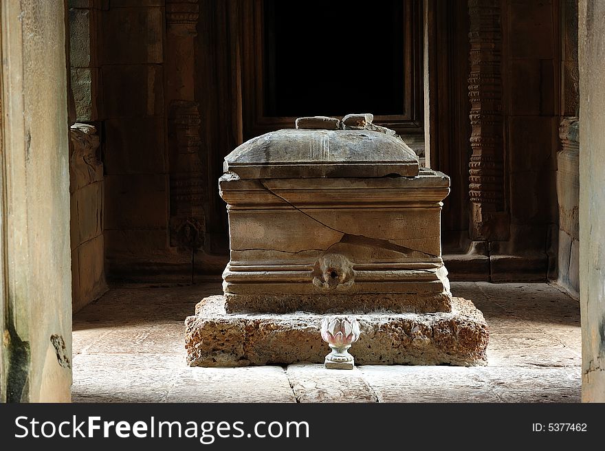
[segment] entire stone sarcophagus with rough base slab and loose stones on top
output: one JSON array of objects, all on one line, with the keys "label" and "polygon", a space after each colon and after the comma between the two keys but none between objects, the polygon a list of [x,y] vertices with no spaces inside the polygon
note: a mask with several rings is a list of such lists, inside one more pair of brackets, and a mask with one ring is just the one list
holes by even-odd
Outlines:
[{"label": "entire stone sarcophagus with rough base slab and loose stones on top", "polygon": [[371,121],[300,118],[225,157],[230,262],[187,319],[190,364],[322,362],[334,313],[358,316],[360,364],[485,362],[485,320],[441,259],[450,180]]}]

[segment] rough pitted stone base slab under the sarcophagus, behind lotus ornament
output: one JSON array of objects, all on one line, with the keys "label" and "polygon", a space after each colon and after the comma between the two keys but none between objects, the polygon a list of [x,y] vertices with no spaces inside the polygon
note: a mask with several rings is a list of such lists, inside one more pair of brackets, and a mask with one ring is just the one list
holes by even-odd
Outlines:
[{"label": "rough pitted stone base slab under the sarcophagus, behind lotus ornament", "polygon": [[[224,296],[204,298],[185,321],[190,366],[324,363],[321,314],[228,314]],[[360,314],[361,338],[349,350],[360,365],[487,364],[488,329],[470,300],[434,314]]]}]

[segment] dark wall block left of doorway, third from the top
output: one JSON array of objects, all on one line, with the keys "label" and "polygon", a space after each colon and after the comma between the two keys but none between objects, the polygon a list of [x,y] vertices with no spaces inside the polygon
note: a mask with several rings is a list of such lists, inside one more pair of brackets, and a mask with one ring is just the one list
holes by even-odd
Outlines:
[{"label": "dark wall block left of doorway, third from the top", "polygon": [[103,153],[108,174],[166,172],[164,118],[120,118],[105,121]]}]

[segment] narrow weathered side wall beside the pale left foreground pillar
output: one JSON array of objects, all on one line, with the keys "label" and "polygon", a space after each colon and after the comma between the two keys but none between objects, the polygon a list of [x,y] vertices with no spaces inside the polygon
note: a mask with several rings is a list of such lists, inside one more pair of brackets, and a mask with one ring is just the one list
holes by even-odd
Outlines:
[{"label": "narrow weathered side wall beside the pale left foreground pillar", "polygon": [[100,124],[98,14],[93,0],[69,1],[70,89],[75,117],[69,131],[70,238],[74,312],[107,290],[104,272],[104,174],[96,126]]}]

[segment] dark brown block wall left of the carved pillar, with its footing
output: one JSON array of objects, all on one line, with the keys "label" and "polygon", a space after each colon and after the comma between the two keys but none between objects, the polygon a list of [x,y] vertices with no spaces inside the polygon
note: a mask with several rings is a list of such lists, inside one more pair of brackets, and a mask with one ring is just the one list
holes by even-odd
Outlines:
[{"label": "dark brown block wall left of the carved pillar, with its footing", "polygon": [[190,252],[168,242],[166,2],[99,3],[107,277],[115,283],[190,281]]}]

